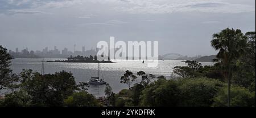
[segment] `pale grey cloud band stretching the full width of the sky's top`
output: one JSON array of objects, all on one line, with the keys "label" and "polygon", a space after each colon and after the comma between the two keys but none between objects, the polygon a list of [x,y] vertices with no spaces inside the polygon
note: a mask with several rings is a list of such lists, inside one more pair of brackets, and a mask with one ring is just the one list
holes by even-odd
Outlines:
[{"label": "pale grey cloud band stretching the full width of the sky's top", "polygon": [[[63,8],[70,6],[79,6],[92,3],[95,6],[104,5],[109,10],[115,12],[125,12],[129,14],[171,14],[173,12],[213,12],[213,13],[240,13],[255,12],[254,5],[243,5],[241,3],[232,3],[232,1],[223,0],[12,0],[9,2],[0,1],[0,12],[19,9],[36,8]],[[84,8],[86,10],[86,8]],[[90,18],[90,16],[81,16],[80,18]]]}]

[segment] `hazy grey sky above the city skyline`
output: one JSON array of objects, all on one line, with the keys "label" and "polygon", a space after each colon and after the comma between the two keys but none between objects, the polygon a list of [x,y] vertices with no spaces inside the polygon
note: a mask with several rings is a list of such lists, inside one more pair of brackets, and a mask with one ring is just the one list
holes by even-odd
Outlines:
[{"label": "hazy grey sky above the city skyline", "polygon": [[210,55],[213,33],[255,31],[255,0],[0,0],[0,45],[42,50],[159,41],[159,54]]}]

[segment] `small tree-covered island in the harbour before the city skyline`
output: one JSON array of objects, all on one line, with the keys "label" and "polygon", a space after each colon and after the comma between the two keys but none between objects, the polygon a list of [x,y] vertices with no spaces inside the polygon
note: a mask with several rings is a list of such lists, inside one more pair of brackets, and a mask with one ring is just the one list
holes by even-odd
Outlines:
[{"label": "small tree-covered island in the harbour before the city skyline", "polygon": [[[103,57],[103,56],[102,56]],[[68,60],[55,60],[55,61],[47,61],[47,62],[66,62],[66,63],[113,63],[109,58],[108,60],[98,60],[97,56],[94,57],[92,55],[88,56],[80,56],[77,55],[73,57],[72,55],[67,58]]]}]

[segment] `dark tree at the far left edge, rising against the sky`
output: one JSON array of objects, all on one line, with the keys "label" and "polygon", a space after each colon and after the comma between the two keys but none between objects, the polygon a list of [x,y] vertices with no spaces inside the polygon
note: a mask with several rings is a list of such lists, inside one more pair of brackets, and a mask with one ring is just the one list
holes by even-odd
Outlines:
[{"label": "dark tree at the far left edge, rising against the sky", "polygon": [[13,58],[7,53],[7,49],[0,45],[0,90],[18,81],[18,77],[10,69],[11,59]]}]

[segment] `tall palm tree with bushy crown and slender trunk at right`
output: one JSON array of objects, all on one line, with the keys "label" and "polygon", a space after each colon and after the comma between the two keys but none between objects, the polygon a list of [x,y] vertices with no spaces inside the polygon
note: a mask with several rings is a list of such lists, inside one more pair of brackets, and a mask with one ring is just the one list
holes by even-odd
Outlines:
[{"label": "tall palm tree with bushy crown and slender trunk at right", "polygon": [[240,29],[226,28],[220,33],[214,33],[211,41],[212,47],[218,50],[216,62],[224,67],[224,76],[228,80],[228,106],[230,106],[230,85],[232,71],[237,59],[245,52],[246,36]]}]

